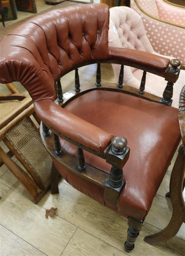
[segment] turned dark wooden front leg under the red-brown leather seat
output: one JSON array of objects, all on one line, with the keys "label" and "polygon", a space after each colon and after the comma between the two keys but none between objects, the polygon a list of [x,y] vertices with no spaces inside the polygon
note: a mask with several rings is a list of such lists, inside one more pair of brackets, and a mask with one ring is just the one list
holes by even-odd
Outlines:
[{"label": "turned dark wooden front leg under the red-brown leather seat", "polygon": [[128,217],[127,240],[124,243],[124,247],[127,251],[132,251],[134,249],[134,243],[139,236],[142,225],[143,222],[140,220]]}]

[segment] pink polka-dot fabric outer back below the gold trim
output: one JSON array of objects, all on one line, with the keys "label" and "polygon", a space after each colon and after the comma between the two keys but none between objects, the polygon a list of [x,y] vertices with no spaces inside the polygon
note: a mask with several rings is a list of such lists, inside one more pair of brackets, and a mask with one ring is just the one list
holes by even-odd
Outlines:
[{"label": "pink polka-dot fabric outer back below the gold trim", "polygon": [[173,56],[185,66],[185,30],[170,24],[156,21],[143,14],[131,0],[131,7],[137,11],[143,20],[147,37],[155,52]]}]

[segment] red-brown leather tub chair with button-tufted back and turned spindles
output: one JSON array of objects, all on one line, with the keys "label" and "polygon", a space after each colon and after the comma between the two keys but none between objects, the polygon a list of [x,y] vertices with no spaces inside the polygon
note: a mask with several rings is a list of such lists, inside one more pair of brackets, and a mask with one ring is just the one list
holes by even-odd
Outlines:
[{"label": "red-brown leather tub chair with button-tufted back and turned spindles", "polygon": [[[172,60],[170,67],[164,57],[109,47],[108,28],[106,4],[37,16],[2,40],[0,82],[17,80],[29,91],[59,173],[128,218],[125,248],[132,250],[181,139],[178,109],[170,107],[180,62]],[[78,68],[93,63],[96,84],[80,88]],[[120,64],[118,86],[101,84],[100,63]],[[122,86],[123,65],[144,70],[140,91]],[[74,69],[73,97],[63,98],[60,78]],[[146,72],[168,81],[161,98],[144,92]]]}]

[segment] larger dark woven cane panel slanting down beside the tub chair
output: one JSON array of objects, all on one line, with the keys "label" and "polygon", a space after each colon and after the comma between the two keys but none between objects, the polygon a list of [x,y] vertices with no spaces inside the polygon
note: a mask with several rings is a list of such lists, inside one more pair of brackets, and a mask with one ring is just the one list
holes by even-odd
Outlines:
[{"label": "larger dark woven cane panel slanting down beside the tub chair", "polygon": [[50,184],[52,159],[29,120],[25,117],[6,133],[6,138],[47,188]]}]

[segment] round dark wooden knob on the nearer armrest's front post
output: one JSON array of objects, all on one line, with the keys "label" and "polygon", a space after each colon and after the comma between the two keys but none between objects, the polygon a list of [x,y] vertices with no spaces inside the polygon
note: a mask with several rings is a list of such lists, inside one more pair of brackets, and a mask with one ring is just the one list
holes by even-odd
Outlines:
[{"label": "round dark wooden knob on the nearer armrest's front post", "polygon": [[115,136],[112,138],[111,150],[116,155],[124,154],[126,151],[127,139],[123,136]]}]

